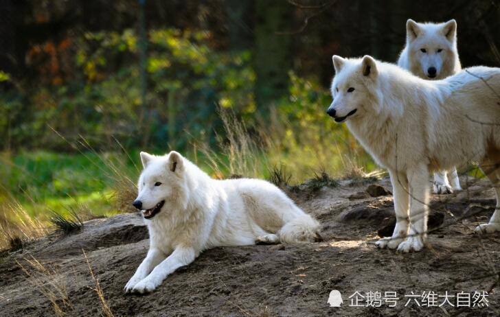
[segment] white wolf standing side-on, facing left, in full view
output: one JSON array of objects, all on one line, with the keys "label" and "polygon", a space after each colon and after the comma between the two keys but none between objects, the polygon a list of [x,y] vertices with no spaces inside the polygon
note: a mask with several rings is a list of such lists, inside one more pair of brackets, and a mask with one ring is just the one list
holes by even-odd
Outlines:
[{"label": "white wolf standing side-on, facing left, in full view", "polygon": [[476,161],[490,178],[497,209],[478,233],[500,231],[500,69],[471,67],[445,80],[422,80],[371,56],[333,56],[327,110],[389,170],[396,228],[380,248],[418,251],[427,232],[429,172]]}]

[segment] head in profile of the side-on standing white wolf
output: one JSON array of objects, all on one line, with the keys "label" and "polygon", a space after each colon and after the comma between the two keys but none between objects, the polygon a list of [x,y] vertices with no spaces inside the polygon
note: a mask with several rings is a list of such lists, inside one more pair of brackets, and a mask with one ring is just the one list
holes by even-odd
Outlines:
[{"label": "head in profile of the side-on standing white wolf", "polygon": [[326,110],[337,122],[355,120],[365,113],[378,113],[380,90],[378,70],[371,56],[345,59],[333,56],[335,77],[332,82],[333,102]]}]

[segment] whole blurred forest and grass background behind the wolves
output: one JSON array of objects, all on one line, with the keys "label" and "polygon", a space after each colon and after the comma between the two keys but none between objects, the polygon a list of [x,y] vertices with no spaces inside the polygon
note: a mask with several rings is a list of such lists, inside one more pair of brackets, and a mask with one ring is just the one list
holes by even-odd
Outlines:
[{"label": "whole blurred forest and grass background behind the wolves", "polygon": [[462,65],[500,65],[498,0],[0,0],[1,231],[126,211],[139,150],[219,178],[372,172],[324,114],[331,56],[395,62],[409,18],[456,19]]}]

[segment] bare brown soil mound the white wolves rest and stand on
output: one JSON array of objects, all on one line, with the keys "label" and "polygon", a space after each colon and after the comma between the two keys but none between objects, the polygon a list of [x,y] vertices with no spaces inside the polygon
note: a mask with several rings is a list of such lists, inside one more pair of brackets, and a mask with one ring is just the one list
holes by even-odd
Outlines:
[{"label": "bare brown soil mound the white wolves rest and stand on", "polygon": [[[0,315],[104,315],[90,265],[115,316],[500,316],[500,235],[473,233],[488,222],[495,196],[486,180],[472,183],[432,197],[431,213],[444,222],[429,233],[426,249],[405,255],[374,246],[393,213],[390,194],[372,197],[370,184],[351,180],[299,187],[290,194],[320,220],[323,242],[207,250],[146,296],[123,294],[148,249],[141,216],[91,220],[80,233],[52,234],[1,255]],[[391,191],[387,178],[374,184]],[[329,307],[331,290],[341,292],[342,307]],[[355,291],[397,292],[400,300],[396,307],[350,307]],[[405,307],[405,295],[423,291],[488,291],[489,307]]]}]

